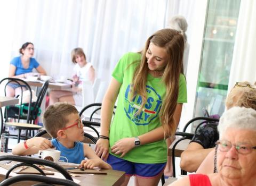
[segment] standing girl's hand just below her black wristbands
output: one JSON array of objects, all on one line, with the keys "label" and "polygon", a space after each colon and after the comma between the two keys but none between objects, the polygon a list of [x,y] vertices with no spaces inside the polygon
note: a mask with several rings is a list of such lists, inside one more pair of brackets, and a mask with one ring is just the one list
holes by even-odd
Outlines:
[{"label": "standing girl's hand just below her black wristbands", "polygon": [[106,160],[109,154],[109,141],[107,139],[99,139],[95,146],[95,154],[101,159]]}]

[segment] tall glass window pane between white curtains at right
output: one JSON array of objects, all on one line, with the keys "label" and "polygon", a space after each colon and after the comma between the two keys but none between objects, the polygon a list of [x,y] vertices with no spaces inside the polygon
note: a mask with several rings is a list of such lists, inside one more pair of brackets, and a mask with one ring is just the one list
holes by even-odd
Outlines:
[{"label": "tall glass window pane between white curtains at right", "polygon": [[194,117],[225,109],[240,0],[209,0]]}]

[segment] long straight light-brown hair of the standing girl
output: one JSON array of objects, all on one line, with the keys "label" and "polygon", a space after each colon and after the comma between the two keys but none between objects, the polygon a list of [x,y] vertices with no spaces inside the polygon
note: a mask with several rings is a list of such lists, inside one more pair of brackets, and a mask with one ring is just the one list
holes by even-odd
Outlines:
[{"label": "long straight light-brown hair of the standing girl", "polygon": [[[138,64],[132,80],[132,95],[140,95],[142,98],[141,109],[146,104],[147,92],[146,82],[149,73],[146,52],[149,44],[165,48],[167,63],[162,75],[162,81],[166,85],[166,94],[159,113],[159,118],[164,128],[165,136],[170,137],[175,133],[177,124],[174,120],[174,111],[179,94],[179,77],[183,73],[184,37],[179,31],[173,29],[162,29],[150,36],[143,49],[141,62]],[[141,109],[139,112],[141,112]]]}]

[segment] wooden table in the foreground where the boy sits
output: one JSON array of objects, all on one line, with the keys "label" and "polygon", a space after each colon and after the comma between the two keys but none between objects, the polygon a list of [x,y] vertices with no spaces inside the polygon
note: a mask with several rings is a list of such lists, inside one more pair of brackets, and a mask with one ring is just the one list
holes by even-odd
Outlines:
[{"label": "wooden table in the foreground where the boy sits", "polygon": [[[6,155],[7,153],[0,153],[1,155]],[[10,155],[10,154],[9,154]],[[0,167],[0,181],[4,180],[4,176],[7,170]],[[75,182],[79,185],[87,185],[87,186],[97,186],[97,185],[121,185],[125,180],[125,172],[123,171],[115,171],[115,170],[100,170],[100,172],[107,172],[107,174],[80,174],[81,176],[73,177]],[[11,173],[11,176],[15,176],[17,174]],[[55,176],[59,178],[63,178],[60,176]],[[36,182],[26,181],[26,182],[19,182],[13,185],[31,185],[35,184]]]}]

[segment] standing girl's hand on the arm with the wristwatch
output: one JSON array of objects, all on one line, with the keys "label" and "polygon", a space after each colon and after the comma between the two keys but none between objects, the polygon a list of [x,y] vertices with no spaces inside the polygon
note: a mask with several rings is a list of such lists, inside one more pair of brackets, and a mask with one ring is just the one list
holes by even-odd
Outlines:
[{"label": "standing girl's hand on the arm with the wristwatch", "polygon": [[135,147],[134,145],[135,138],[123,138],[115,143],[111,147],[111,152],[115,154],[121,154],[120,157],[124,157],[131,149]]}]

